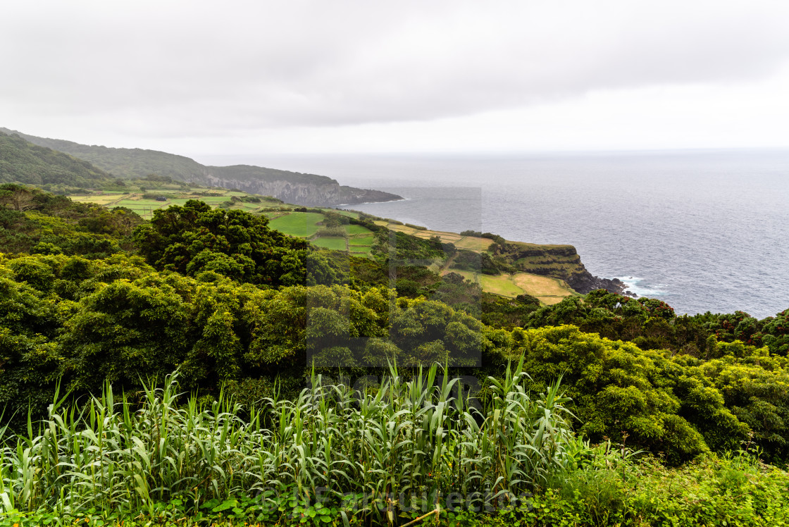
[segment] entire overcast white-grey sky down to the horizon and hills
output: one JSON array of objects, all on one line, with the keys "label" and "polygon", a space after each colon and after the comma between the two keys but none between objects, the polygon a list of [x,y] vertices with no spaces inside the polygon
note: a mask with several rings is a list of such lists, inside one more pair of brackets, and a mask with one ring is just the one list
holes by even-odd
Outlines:
[{"label": "entire overcast white-grey sky down to the horizon and hills", "polygon": [[0,125],[184,155],[789,147],[789,2],[4,2]]}]

